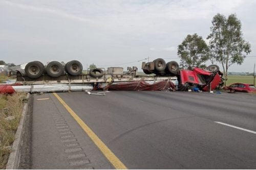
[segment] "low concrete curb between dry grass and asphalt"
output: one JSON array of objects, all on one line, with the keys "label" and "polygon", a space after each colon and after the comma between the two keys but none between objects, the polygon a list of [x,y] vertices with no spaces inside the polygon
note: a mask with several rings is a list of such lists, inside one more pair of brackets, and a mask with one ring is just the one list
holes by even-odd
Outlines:
[{"label": "low concrete curb between dry grass and asphalt", "polygon": [[[27,94],[27,99],[29,99],[30,94]],[[20,148],[22,146],[22,134],[24,133],[24,123],[26,119],[26,114],[28,111],[28,103],[25,103],[22,111],[22,116],[20,117],[19,125],[15,134],[15,139],[12,144],[12,152],[9,156],[6,169],[17,169],[20,158]]]}]

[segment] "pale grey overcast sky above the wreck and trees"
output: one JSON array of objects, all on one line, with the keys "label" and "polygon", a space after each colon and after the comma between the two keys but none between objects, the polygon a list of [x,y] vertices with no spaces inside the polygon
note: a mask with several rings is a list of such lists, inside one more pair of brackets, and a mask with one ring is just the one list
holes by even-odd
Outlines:
[{"label": "pale grey overcast sky above the wreck and trees", "polygon": [[[187,34],[206,39],[217,13],[236,13],[256,56],[256,1],[0,0],[0,60],[79,60],[141,67],[143,58],[177,58]],[[165,59],[170,60],[179,59]],[[253,71],[256,57],[229,71]]]}]

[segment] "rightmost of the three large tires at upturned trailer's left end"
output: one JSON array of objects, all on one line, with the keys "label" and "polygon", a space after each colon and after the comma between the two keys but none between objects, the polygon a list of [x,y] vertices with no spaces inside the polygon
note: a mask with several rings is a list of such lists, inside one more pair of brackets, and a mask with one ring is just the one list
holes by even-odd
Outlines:
[{"label": "rightmost of the three large tires at upturned trailer's left end", "polygon": [[82,74],[82,64],[79,61],[72,60],[65,65],[65,71],[72,76]]}]

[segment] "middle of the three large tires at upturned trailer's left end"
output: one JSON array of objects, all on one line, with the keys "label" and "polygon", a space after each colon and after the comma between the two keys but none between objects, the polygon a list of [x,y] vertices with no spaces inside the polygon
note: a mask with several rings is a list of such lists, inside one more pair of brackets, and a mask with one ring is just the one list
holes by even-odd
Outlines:
[{"label": "middle of the three large tires at upturned trailer's left end", "polygon": [[46,66],[46,72],[49,76],[57,78],[63,75],[64,68],[63,65],[58,61],[51,61]]}]

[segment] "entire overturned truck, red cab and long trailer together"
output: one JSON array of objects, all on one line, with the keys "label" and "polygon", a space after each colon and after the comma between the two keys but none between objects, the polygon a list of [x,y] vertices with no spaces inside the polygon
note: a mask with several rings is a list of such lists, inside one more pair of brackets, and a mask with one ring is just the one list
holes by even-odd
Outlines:
[{"label": "entire overturned truck, red cab and long trailer together", "polygon": [[[210,67],[211,68],[211,67]],[[216,70],[193,68],[184,70],[175,61],[165,63],[163,59],[142,63],[146,75],[138,75],[137,67],[93,68],[83,72],[82,64],[73,60],[68,63],[57,61],[47,65],[39,61],[29,62],[10,71],[16,79],[9,91],[53,92],[84,90],[187,90],[193,86],[207,91],[221,83]],[[151,74],[154,74],[153,76]],[[218,79],[219,78],[219,79]],[[17,86],[19,85],[19,86]],[[7,87],[6,87],[7,88]],[[3,88],[2,88],[3,89]],[[13,90],[10,90],[13,89]],[[1,87],[0,87],[1,92]],[[3,90],[2,90],[3,93]]]}]

